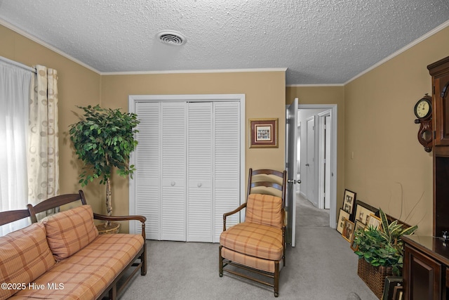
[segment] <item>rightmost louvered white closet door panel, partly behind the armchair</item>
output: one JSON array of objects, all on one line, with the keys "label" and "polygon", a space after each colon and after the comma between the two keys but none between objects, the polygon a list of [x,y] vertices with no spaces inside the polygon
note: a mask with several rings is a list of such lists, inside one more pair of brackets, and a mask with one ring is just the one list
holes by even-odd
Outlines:
[{"label": "rightmost louvered white closet door panel, partly behind the armchair", "polygon": [[[214,103],[214,169],[213,198],[215,206],[213,242],[220,242],[223,214],[240,204],[240,104]],[[239,222],[239,214],[227,218],[227,226]]]}]

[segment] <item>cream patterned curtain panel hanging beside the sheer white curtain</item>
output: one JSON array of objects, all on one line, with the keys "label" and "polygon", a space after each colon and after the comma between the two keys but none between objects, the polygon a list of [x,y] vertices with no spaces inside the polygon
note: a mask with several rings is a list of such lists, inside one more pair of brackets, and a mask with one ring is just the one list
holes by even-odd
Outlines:
[{"label": "cream patterned curtain panel hanging beside the sheer white curtain", "polygon": [[59,194],[58,72],[36,65],[29,101],[28,200]]}]

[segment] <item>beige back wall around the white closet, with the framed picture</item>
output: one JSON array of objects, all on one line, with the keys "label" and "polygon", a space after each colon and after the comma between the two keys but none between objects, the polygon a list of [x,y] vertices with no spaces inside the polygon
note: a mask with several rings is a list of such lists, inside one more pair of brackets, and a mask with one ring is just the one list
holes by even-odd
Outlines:
[{"label": "beige back wall around the white closet, with the framed picture", "polygon": [[[246,103],[245,169],[283,169],[285,164],[285,72],[147,74],[102,76],[102,105],[128,108],[129,95],[243,93]],[[249,148],[248,119],[279,118],[279,148]],[[137,168],[139,166],[136,166]],[[115,199],[128,199],[128,181],[113,178]],[[128,213],[128,202],[114,204]]]}]

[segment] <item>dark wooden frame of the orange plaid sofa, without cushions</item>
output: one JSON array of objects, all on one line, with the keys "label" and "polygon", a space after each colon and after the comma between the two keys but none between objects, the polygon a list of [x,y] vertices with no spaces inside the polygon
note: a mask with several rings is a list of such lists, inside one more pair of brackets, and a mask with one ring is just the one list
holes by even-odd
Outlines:
[{"label": "dark wooden frame of the orange plaid sofa, without cushions", "polygon": [[[55,197],[48,198],[47,200],[43,200],[39,204],[32,205],[28,204],[28,209],[19,209],[15,211],[1,211],[0,212],[0,226],[5,225],[7,223],[11,223],[13,221],[18,221],[20,219],[25,219],[30,217],[32,223],[37,222],[36,214],[40,212],[47,211],[49,209],[55,209],[56,207],[60,207],[65,204],[69,204],[71,202],[81,201],[81,204],[86,205],[86,197],[84,197],[84,193],[82,190],[79,190],[78,194],[65,194],[58,195]],[[104,216],[101,214],[93,214],[93,219],[102,220],[102,221],[140,221],[142,224],[142,237],[144,239],[144,244],[142,248],[139,250],[138,254],[134,256],[134,258],[130,261],[128,266],[126,266],[119,275],[116,276],[115,280],[111,282],[111,284],[105,289],[102,295],[98,297],[98,299],[102,299],[105,296],[108,296],[109,299],[115,300],[118,296],[121,296],[124,289],[127,287],[130,280],[133,278],[135,273],[140,269],[140,275],[147,274],[147,242],[145,240],[145,221],[147,218],[145,216]],[[129,275],[126,275],[128,269],[133,267],[133,270]],[[125,276],[126,275],[126,276]],[[123,278],[123,283],[120,282],[120,286],[117,284]]]}]

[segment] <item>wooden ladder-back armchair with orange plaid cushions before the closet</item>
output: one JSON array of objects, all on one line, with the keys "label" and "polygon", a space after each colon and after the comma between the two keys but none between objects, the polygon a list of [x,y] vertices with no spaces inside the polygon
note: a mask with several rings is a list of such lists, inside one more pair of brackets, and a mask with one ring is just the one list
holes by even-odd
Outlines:
[{"label": "wooden ladder-back armchair with orange plaid cushions before the closet", "polygon": [[[223,232],[220,235],[219,272],[243,278],[274,288],[279,296],[279,263],[286,265],[284,203],[287,172],[269,169],[250,169],[246,203],[223,214]],[[246,208],[245,221],[226,228],[226,218]],[[244,273],[241,273],[241,270]],[[248,275],[264,275],[260,280]]]}]

